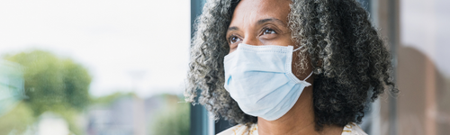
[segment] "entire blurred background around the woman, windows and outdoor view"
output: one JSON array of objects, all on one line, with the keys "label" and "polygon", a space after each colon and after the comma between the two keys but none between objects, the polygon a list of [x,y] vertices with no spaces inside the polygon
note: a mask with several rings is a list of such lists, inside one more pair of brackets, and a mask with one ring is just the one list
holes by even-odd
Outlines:
[{"label": "entire blurred background around the woman, windows and outdoor view", "polygon": [[[401,94],[370,104],[371,135],[450,132],[450,1],[358,0],[392,51]],[[212,135],[184,103],[204,0],[0,1],[0,135]]]}]

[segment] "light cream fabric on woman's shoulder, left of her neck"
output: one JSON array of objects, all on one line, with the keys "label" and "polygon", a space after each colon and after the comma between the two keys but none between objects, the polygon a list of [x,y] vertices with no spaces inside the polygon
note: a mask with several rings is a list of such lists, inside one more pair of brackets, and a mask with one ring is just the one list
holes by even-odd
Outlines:
[{"label": "light cream fabric on woman's shoulder, left of her neck", "polygon": [[257,124],[251,124],[250,126],[238,124],[221,131],[217,135],[257,135]]}]

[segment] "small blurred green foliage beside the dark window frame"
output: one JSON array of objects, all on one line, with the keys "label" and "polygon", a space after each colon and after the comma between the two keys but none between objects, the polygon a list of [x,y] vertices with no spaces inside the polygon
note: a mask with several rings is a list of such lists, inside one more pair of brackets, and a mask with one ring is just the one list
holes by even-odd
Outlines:
[{"label": "small blurred green foliage beside the dark window frame", "polygon": [[174,95],[163,95],[166,106],[156,115],[156,120],[150,129],[156,135],[189,135],[190,130],[190,104],[178,103],[184,101]]}]

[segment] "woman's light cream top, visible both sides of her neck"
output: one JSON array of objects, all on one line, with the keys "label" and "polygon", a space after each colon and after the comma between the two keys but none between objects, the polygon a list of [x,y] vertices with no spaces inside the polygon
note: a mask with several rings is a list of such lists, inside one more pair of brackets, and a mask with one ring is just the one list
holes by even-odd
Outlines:
[{"label": "woman's light cream top, visible both sides of her neck", "polygon": [[[257,124],[252,124],[250,129],[247,129],[247,126],[245,125],[238,124],[227,130],[223,130],[217,135],[258,135]],[[342,135],[367,135],[367,133],[365,133],[358,125],[351,122],[344,127]]]}]

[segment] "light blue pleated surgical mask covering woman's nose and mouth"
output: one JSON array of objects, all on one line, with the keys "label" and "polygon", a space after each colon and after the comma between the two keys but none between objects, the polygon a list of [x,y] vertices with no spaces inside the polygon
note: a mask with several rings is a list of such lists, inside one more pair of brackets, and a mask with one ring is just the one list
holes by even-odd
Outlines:
[{"label": "light blue pleated surgical mask covering woman's nose and mouth", "polygon": [[274,121],[293,108],[303,89],[311,85],[305,80],[312,75],[304,80],[293,75],[295,50],[241,43],[225,56],[224,86],[243,112]]}]

